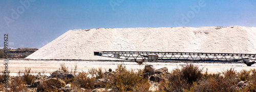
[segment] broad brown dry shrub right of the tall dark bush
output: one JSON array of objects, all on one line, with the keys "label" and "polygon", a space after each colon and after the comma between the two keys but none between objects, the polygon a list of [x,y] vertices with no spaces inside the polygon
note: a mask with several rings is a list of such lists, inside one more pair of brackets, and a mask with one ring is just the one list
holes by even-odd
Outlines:
[{"label": "broad brown dry shrub right of the tall dark bush", "polygon": [[194,91],[237,91],[236,84],[239,82],[237,72],[228,69],[217,74],[209,74],[194,85]]}]

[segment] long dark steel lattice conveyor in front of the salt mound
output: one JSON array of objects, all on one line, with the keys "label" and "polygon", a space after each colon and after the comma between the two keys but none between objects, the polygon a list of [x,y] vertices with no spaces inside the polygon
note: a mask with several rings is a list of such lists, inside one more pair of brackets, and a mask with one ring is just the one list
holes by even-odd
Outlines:
[{"label": "long dark steel lattice conveyor in front of the salt mound", "polygon": [[[126,60],[177,60],[207,62],[244,62],[251,66],[256,61],[256,54],[241,53],[194,53],[194,52],[144,52],[144,51],[102,51],[94,55]],[[157,58],[149,59],[154,55]]]}]

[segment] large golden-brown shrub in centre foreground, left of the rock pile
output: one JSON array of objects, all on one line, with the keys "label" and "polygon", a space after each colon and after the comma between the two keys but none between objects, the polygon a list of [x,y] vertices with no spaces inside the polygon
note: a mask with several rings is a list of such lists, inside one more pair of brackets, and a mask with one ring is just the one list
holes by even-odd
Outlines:
[{"label": "large golden-brown shrub in centre foreground, left of the rock pile", "polygon": [[141,74],[134,70],[127,71],[124,65],[118,65],[114,73],[109,77],[112,83],[109,87],[116,88],[118,91],[148,91],[150,83],[143,79]]}]

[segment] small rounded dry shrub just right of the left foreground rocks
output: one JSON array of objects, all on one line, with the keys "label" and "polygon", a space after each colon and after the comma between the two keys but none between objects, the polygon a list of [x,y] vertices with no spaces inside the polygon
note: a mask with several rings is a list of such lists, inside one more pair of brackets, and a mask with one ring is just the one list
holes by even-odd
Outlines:
[{"label": "small rounded dry shrub just right of the left foreground rocks", "polygon": [[80,88],[94,89],[94,77],[90,77],[87,72],[79,72],[73,84]]}]

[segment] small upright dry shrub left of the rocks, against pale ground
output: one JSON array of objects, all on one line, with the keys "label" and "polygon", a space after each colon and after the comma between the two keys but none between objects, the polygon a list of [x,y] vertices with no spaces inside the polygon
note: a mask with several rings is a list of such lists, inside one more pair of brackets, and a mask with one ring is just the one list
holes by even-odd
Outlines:
[{"label": "small upright dry shrub left of the rocks, against pale ground", "polygon": [[25,81],[26,84],[31,85],[31,83],[35,81],[35,76],[31,75],[31,68],[25,68],[23,74],[23,81]]}]

